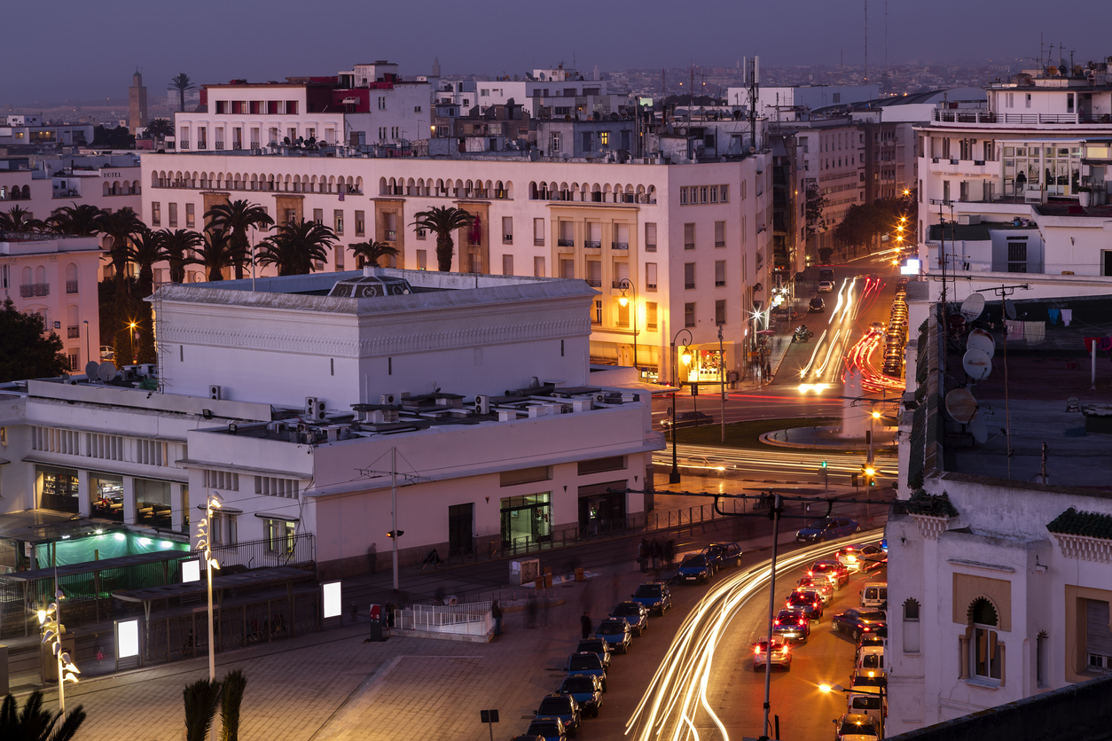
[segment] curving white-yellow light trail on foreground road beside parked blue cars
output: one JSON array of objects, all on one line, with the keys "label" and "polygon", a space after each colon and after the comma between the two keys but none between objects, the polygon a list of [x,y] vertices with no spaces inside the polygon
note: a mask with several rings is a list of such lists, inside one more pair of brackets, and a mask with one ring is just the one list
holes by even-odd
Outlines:
[{"label": "curving white-yellow light trail on foreground road beside parked blue cars", "polygon": [[[877,542],[882,537],[883,531],[874,530],[803,548],[777,559],[776,570],[803,565],[844,542]],[[645,694],[626,721],[626,735],[635,741],[699,741],[695,720],[702,708],[717,728],[722,741],[729,741],[725,725],[706,697],[714,653],[737,611],[762,592],[771,578],[772,562],[763,561],[708,590],[676,632]]]}]

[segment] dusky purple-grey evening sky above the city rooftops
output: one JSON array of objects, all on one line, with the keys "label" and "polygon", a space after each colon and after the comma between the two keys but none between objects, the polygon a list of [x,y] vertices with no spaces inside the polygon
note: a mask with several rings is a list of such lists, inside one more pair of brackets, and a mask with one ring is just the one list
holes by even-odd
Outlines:
[{"label": "dusky purple-grey evening sky above the city rooftops", "polygon": [[[590,71],[697,64],[860,64],[865,0],[52,0],[3,10],[0,103],[122,98],[138,67],[148,94],[195,82],[335,74],[388,59],[401,74],[523,74],[563,62]],[[884,58],[884,0],[868,6],[870,67]],[[1035,58],[1040,34],[1075,59],[1112,54],[1106,23],[1041,0],[887,3],[891,63]],[[1055,56],[1056,52],[1055,52]]]}]

